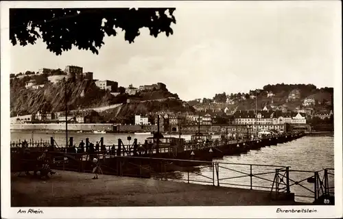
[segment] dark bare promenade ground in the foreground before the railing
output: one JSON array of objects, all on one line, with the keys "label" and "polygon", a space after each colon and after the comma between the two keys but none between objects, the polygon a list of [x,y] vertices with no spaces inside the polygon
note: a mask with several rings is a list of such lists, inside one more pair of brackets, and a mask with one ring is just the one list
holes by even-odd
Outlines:
[{"label": "dark bare promenade ground in the foreground before the railing", "polygon": [[157,179],[58,171],[48,180],[11,175],[12,207],[304,205],[270,192]]}]

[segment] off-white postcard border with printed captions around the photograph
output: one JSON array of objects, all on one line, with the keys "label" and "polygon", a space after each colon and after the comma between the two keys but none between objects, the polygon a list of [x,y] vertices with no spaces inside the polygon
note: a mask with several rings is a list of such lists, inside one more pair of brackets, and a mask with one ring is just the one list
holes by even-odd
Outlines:
[{"label": "off-white postcard border with printed captions around the photograph", "polygon": [[[298,4],[316,1],[294,1]],[[279,206],[281,209],[316,209],[312,214],[276,213],[277,206],[251,207],[40,207],[44,214],[16,214],[10,207],[10,42],[9,8],[114,8],[114,7],[194,7],[194,4],[230,4],[228,1],[1,1],[1,217],[3,218],[339,218],[342,213],[342,8],[335,6],[337,50],[335,55],[335,206]]]}]

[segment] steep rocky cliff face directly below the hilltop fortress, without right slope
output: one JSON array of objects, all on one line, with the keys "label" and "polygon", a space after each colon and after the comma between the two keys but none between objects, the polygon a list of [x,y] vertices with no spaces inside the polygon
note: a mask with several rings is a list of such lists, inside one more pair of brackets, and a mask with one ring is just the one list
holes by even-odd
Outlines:
[{"label": "steep rocky cliff face directly below the hilltop fortress, without right slope", "polygon": [[11,81],[10,86],[11,116],[34,114],[38,110],[63,111],[66,97],[69,110],[101,107],[126,101],[123,96],[113,96],[110,92],[100,90],[93,81],[68,81],[67,85],[62,82],[45,83],[44,88],[34,90],[25,88],[22,81],[16,80]]}]

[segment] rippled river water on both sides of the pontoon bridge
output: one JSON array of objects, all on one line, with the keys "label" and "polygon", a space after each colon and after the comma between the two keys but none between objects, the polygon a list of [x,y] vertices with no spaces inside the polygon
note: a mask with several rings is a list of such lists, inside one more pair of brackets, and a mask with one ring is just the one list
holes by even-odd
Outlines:
[{"label": "rippled river water on both sides of the pontoon bridge", "polygon": [[[32,133],[30,131],[11,131],[11,141],[19,141],[26,139],[33,139],[34,141],[50,140],[53,136],[56,143],[59,146],[65,145],[65,133]],[[104,144],[112,145],[118,142],[118,138],[123,140],[124,144],[128,144],[127,137],[131,136],[132,143],[134,138],[137,138],[138,142],[143,143],[145,138],[151,135],[128,135],[128,134],[99,134],[99,133],[69,133],[69,137],[74,138],[76,145],[80,140],[89,138],[90,142],[97,142],[101,137],[104,137]],[[169,135],[165,136],[168,137]],[[178,137],[173,136],[172,137]],[[213,136],[218,138],[219,136]],[[186,140],[190,140],[190,135],[182,136]],[[239,188],[250,188],[250,177],[246,174],[250,174],[250,165],[243,164],[263,164],[263,165],[275,165],[275,166],[289,166],[291,172],[289,172],[289,184],[294,184],[294,181],[300,181],[314,175],[313,172],[296,172],[295,170],[307,170],[307,171],[319,171],[323,168],[334,168],[333,159],[334,147],[332,136],[305,136],[292,142],[285,144],[278,144],[277,146],[266,146],[257,151],[248,151],[246,154],[237,156],[227,156],[223,159],[216,159],[219,164],[219,183],[221,186],[234,186]],[[271,187],[272,181],[275,177],[276,167],[270,166],[252,166],[251,171],[255,177],[252,177],[252,185]],[[237,172],[239,171],[239,172]],[[214,171],[216,172],[216,171]],[[270,172],[270,174],[263,174]],[[323,172],[323,171],[322,171]],[[320,172],[320,175],[322,174]],[[331,170],[331,172],[333,172]],[[283,174],[283,172],[281,172]],[[202,167],[196,173],[182,173],[183,179],[187,181],[197,180],[206,181],[207,184],[217,185],[218,177],[216,174],[213,177],[213,167]],[[256,175],[260,174],[260,175]],[[242,177],[245,176],[245,177]],[[230,177],[237,177],[235,179],[227,179]],[[284,178],[285,179],[285,178]],[[333,176],[329,176],[331,179],[330,185],[333,185]],[[239,184],[228,185],[225,183]],[[241,186],[244,185],[244,186]],[[246,185],[246,186],[245,186]],[[303,185],[305,188],[303,188]],[[296,195],[314,196],[309,190],[314,191],[314,184],[303,181],[300,185],[292,185],[291,192]],[[263,189],[253,186],[254,189]],[[266,188],[265,188],[266,189]],[[268,189],[267,189],[268,190]],[[269,189],[270,190],[270,189]],[[296,196],[296,201],[309,202],[311,199]]]}]

